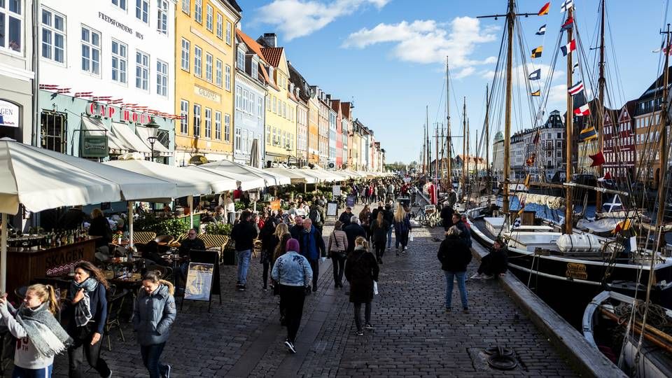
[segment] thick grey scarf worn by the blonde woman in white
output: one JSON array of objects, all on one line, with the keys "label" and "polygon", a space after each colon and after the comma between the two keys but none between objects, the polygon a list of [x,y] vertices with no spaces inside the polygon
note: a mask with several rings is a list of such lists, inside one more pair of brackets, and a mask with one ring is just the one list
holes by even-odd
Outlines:
[{"label": "thick grey scarf worn by the blonde woman in white", "polygon": [[61,353],[73,340],[48,310],[44,302],[36,309],[21,304],[16,312],[16,321],[26,330],[28,339],[41,356],[51,357]]}]

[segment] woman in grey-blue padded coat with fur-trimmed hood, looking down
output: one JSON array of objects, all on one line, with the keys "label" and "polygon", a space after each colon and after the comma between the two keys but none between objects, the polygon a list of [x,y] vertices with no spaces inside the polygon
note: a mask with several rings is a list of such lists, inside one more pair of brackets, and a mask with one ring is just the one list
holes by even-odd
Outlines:
[{"label": "woman in grey-blue padded coat with fur-trimmed hood, looking down", "polygon": [[142,362],[150,378],[170,377],[170,365],[163,365],[160,358],[177,314],[174,291],[159,272],[147,272],[133,305],[133,330],[138,332]]}]

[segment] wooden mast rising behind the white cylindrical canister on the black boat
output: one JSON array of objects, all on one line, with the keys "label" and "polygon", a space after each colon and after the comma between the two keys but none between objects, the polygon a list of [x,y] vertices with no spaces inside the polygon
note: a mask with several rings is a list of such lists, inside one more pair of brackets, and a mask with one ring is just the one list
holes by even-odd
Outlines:
[{"label": "wooden mast rising behind the white cylindrical canister on the black boat", "polygon": [[[570,7],[567,11],[568,18],[573,17],[574,8]],[[573,29],[567,29],[567,43],[570,43],[573,38]],[[567,53],[567,87],[572,87],[572,52]],[[572,102],[572,95],[567,92],[567,116],[565,117],[565,182],[572,181],[572,134],[573,134],[573,120],[574,107]],[[565,233],[572,234],[574,207],[572,206],[572,188],[568,187],[565,190]]]}]

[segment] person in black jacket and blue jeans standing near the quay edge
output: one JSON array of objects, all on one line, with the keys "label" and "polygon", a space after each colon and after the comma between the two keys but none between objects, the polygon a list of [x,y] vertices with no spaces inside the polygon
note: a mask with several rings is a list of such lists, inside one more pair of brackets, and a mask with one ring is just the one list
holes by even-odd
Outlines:
[{"label": "person in black jacket and blue jeans standing near the quay edge", "polygon": [[460,291],[462,300],[462,309],[469,312],[467,302],[467,288],[465,276],[467,274],[467,265],[471,262],[471,251],[463,238],[460,237],[462,231],[456,226],[452,226],[446,232],[446,239],[441,242],[437,258],[441,262],[441,269],[446,275],[446,312],[451,310],[451,297],[453,295],[453,281],[457,277],[457,287]]}]

